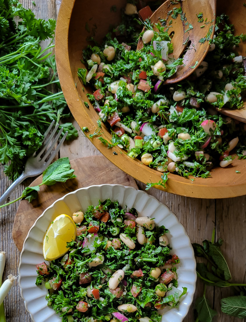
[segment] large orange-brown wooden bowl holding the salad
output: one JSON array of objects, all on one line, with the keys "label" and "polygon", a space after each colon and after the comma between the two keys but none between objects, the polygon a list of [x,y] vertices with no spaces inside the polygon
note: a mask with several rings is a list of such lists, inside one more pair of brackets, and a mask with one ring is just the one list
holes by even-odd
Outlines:
[{"label": "large orange-brown wooden bowl holding the salad", "polygon": [[[83,91],[84,86],[77,76],[78,67],[85,67],[80,62],[82,50],[88,44],[88,36],[93,35],[100,42],[109,26],[116,25],[120,21],[119,9],[125,4],[125,0],[94,0],[92,5],[82,0],[62,0],[60,6],[55,40],[59,80],[74,118],[81,128],[87,126],[89,133],[94,133],[97,128],[98,115],[90,103],[89,109],[86,108],[84,104],[84,101],[88,102],[86,94],[92,93],[92,90],[85,87]],[[116,12],[110,10],[113,5],[116,5]],[[111,135],[103,124],[102,132],[104,132],[102,136],[109,141]],[[132,160],[122,149],[118,147],[108,149],[96,137],[92,139],[92,143],[106,158],[135,179],[143,183],[159,182],[160,172],[142,165],[139,160]],[[113,151],[117,155],[114,155]],[[241,173],[235,173],[235,170]],[[241,196],[246,194],[245,170],[246,160],[235,159],[227,168],[215,167],[211,171],[211,178],[194,178],[195,180],[191,181],[179,175],[169,174],[166,189],[162,186],[156,188],[195,198]]]}]

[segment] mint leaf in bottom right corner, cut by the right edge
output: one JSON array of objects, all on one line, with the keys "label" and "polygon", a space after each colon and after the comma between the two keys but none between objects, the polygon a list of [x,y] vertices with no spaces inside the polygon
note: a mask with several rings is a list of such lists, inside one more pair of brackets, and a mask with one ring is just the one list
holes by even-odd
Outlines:
[{"label": "mint leaf in bottom right corner, cut by the right edge", "polygon": [[246,296],[230,296],[222,298],[221,311],[232,317],[243,319],[246,317]]}]

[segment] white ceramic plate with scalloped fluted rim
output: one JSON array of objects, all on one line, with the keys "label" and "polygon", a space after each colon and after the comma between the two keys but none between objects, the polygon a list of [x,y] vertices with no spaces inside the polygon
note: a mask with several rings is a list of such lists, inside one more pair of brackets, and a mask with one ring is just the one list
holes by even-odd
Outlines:
[{"label": "white ceramic plate with scalloped fluted rim", "polygon": [[155,218],[158,225],[169,229],[167,234],[172,254],[180,259],[177,268],[178,288],[187,287],[187,294],[181,298],[179,308],[165,309],[161,322],[181,322],[188,312],[195,292],[196,261],[189,237],[184,227],[169,208],[143,191],[123,185],[93,185],[81,188],[55,201],[36,220],[30,229],[21,252],[19,284],[25,307],[34,322],[61,322],[55,311],[47,306],[44,285],[36,286],[36,264],[44,261],[42,253],[43,236],[50,222],[61,213],[72,215],[78,209],[85,211],[90,204],[97,205],[98,199],[118,200],[121,206],[134,207],[140,216]]}]

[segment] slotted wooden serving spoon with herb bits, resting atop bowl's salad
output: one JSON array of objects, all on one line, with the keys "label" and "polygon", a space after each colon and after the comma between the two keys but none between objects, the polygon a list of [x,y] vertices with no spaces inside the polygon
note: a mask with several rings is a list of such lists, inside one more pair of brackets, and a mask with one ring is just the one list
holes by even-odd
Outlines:
[{"label": "slotted wooden serving spoon with herb bits, resting atop bowl's salad", "polygon": [[[200,13],[202,17],[198,18]],[[151,15],[151,23],[165,24],[172,36],[174,58],[181,57],[186,50],[183,65],[178,67],[177,72],[165,84],[187,78],[204,60],[210,47],[209,39],[214,36],[215,18],[215,0],[167,0]],[[154,27],[154,30],[157,31],[157,28]],[[143,42],[140,39],[137,50],[142,48]]]}]

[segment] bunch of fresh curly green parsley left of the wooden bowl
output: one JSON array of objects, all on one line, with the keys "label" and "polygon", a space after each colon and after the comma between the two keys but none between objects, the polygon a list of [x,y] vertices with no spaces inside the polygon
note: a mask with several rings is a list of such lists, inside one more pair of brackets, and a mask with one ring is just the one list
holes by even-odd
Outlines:
[{"label": "bunch of fresh curly green parsley left of the wooden bowl", "polygon": [[[18,0],[0,0],[0,162],[10,179],[41,146],[50,121],[70,116],[51,52],[54,29],[55,20],[36,19]],[[62,126],[68,139],[77,137],[72,123]]]}]

